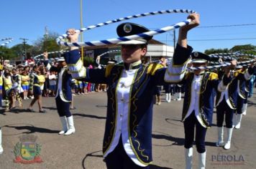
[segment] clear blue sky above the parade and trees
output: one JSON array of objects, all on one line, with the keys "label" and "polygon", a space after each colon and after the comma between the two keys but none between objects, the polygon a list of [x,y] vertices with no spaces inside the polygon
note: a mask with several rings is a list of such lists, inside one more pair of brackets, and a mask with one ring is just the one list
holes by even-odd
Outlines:
[{"label": "clear blue sky above the parade and trees", "polygon": [[[256,1],[254,0],[83,0],[83,26],[99,24],[133,14],[166,9],[193,9],[201,14],[201,26],[256,24]],[[8,0],[1,1],[0,39],[14,38],[14,44],[22,42],[19,38],[29,39],[32,44],[45,33],[64,34],[68,28],[80,28],[80,0]],[[175,24],[186,19],[187,14],[163,14],[131,19],[150,29]],[[85,41],[115,38],[116,24],[102,26],[84,32]],[[173,45],[173,34],[165,33],[154,37]],[[196,51],[204,52],[210,48],[231,48],[238,44],[256,45],[256,25],[231,26],[221,28],[198,28],[189,32],[188,43]],[[239,39],[207,40],[204,39]]]}]

